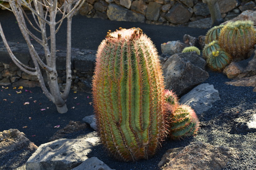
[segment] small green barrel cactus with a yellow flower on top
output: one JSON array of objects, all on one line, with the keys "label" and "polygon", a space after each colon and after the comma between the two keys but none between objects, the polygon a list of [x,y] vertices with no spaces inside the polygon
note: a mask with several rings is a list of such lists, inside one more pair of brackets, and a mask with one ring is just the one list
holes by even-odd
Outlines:
[{"label": "small green barrel cactus with a yellow flower on top", "polygon": [[213,71],[222,71],[230,63],[231,59],[227,52],[216,50],[207,56],[206,62]]}]

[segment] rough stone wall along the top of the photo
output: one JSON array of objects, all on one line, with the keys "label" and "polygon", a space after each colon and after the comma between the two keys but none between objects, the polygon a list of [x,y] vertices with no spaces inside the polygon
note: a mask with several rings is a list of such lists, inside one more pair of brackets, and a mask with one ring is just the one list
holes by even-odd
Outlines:
[{"label": "rough stone wall along the top of the photo", "polygon": [[[224,21],[256,9],[256,0],[219,0],[218,3]],[[210,12],[202,0],[86,0],[80,14],[116,21],[211,27]]]}]

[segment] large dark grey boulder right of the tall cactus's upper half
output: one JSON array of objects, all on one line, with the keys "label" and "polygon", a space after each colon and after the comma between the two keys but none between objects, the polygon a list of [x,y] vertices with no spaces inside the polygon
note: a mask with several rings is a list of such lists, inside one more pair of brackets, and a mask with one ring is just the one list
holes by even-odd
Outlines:
[{"label": "large dark grey boulder right of the tall cactus's upper half", "polygon": [[195,52],[176,53],[163,64],[166,88],[179,96],[209,77],[204,71],[205,60]]}]

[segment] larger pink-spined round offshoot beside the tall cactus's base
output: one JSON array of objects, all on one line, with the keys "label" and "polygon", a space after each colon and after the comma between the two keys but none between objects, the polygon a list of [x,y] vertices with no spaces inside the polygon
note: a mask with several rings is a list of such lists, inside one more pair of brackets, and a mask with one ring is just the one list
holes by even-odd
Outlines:
[{"label": "larger pink-spined round offshoot beside the tall cactus's base", "polygon": [[190,106],[181,104],[172,114],[169,128],[171,139],[184,139],[198,133],[199,120]]}]

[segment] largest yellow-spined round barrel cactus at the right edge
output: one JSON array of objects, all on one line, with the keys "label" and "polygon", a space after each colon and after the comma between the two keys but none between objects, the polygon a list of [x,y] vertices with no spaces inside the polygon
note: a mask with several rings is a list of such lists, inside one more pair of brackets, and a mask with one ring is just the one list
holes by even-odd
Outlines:
[{"label": "largest yellow-spined round barrel cactus at the right edge", "polygon": [[243,60],[256,43],[255,34],[252,21],[229,22],[220,31],[219,45],[232,56],[233,61]]}]

